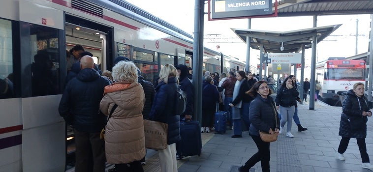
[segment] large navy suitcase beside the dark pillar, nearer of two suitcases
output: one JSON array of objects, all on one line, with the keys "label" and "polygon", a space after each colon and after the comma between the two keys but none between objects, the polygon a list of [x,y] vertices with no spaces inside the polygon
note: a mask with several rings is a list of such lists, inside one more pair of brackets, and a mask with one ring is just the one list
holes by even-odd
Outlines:
[{"label": "large navy suitcase beside the dark pillar, nearer of two suitcases", "polygon": [[181,121],[181,141],[176,142],[176,151],[179,157],[201,155],[202,139],[201,126],[198,121]]}]

